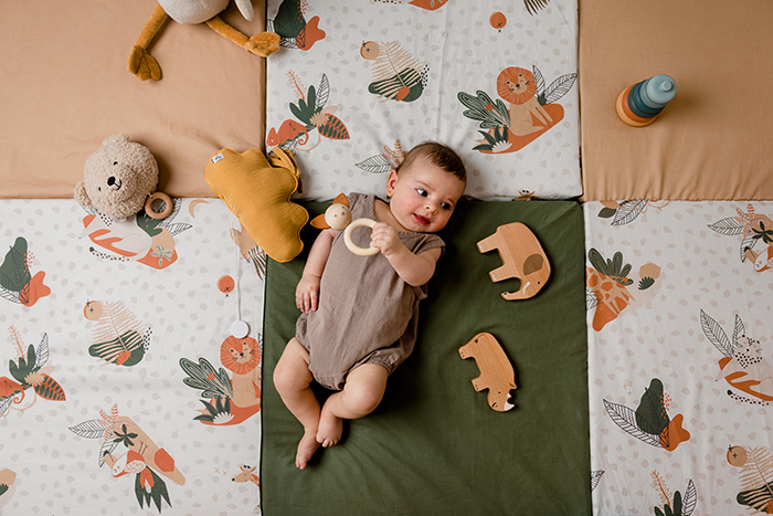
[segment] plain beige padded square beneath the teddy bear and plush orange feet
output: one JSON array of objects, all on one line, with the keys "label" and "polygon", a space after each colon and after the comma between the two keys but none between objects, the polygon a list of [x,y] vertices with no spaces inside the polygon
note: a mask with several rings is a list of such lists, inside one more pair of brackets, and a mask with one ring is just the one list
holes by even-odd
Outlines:
[{"label": "plain beige padded square beneath the teddy bear and plush orange feet", "polygon": [[[0,197],[72,198],[86,158],[105,137],[127,133],[160,168],[159,190],[213,197],[204,180],[218,149],[263,148],[265,60],[204,24],[168,20],[150,53],[161,81],[127,71],[153,0],[4,2],[0,17]],[[263,31],[265,4],[244,20]]]}]

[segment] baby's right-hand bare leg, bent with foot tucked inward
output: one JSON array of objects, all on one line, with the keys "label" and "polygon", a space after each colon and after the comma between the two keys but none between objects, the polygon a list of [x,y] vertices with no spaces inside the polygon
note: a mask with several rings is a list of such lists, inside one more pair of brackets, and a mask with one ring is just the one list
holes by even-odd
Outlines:
[{"label": "baby's right-hand bare leg, bent with foot tucked inward", "polygon": [[389,373],[382,366],[363,364],[349,371],[343,390],[330,396],[322,407],[317,442],[325,447],[341,439],[345,419],[371,413],[381,402]]}]

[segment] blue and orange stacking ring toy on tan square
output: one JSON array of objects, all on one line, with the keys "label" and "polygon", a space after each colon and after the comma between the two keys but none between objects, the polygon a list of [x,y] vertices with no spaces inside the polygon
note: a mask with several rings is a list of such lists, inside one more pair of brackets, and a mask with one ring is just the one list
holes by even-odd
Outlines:
[{"label": "blue and orange stacking ring toy on tan square", "polygon": [[655,75],[621,92],[615,106],[617,116],[632,127],[644,127],[655,122],[674,95],[674,78],[665,74]]}]

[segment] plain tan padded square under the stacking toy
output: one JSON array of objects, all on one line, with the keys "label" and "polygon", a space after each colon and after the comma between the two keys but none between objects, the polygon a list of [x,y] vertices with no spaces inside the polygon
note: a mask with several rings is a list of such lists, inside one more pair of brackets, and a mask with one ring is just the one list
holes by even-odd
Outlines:
[{"label": "plain tan padded square under the stacking toy", "polygon": [[[773,199],[773,2],[580,0],[584,200]],[[652,125],[615,113],[665,73]]]}]

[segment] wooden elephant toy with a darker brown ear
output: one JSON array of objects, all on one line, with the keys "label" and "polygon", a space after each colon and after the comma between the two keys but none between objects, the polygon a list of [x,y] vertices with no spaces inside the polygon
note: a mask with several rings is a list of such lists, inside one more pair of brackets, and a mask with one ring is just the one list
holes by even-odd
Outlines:
[{"label": "wooden elephant toy with a darker brown ear", "polygon": [[520,222],[500,225],[490,236],[478,242],[478,251],[498,250],[502,266],[489,272],[493,282],[516,277],[521,285],[517,292],[504,292],[507,301],[527,299],[537,295],[550,277],[550,262],[540,242]]}]

